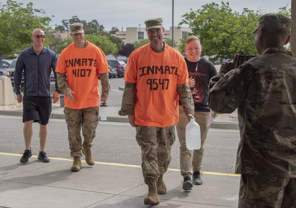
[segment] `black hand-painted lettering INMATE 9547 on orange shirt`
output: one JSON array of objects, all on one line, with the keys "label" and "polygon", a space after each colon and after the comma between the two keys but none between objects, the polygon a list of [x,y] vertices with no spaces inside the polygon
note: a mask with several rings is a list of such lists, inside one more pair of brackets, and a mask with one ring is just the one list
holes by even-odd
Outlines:
[{"label": "black hand-painted lettering INMATE 9547 on orange shirt", "polygon": [[[178,67],[175,66],[145,66],[139,68],[140,70],[140,77],[150,75],[150,74],[172,74],[172,75],[178,75]],[[157,79],[147,79],[146,81],[147,85],[149,85],[150,90],[167,90],[170,79],[166,78],[157,78]]]}]

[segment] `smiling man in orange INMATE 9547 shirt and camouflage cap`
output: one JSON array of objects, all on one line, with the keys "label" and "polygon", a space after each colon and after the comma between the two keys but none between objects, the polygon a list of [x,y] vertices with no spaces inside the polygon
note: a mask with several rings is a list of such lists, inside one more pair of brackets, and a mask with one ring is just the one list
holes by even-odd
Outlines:
[{"label": "smiling man in orange INMATE 9547 shirt and camouflage cap", "polygon": [[131,53],[124,75],[125,87],[119,115],[128,115],[136,127],[142,151],[142,171],[148,185],[144,204],[159,204],[167,189],[163,174],[171,161],[180,97],[186,117],[194,118],[188,71],[180,52],[163,42],[161,18],[145,21],[150,43]]}]

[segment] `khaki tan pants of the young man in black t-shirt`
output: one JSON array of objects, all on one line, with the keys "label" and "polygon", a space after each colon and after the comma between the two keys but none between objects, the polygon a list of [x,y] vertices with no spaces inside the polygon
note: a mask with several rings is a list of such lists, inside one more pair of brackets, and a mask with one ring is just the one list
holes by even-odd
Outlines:
[{"label": "khaki tan pants of the young man in black t-shirt", "polygon": [[185,130],[189,120],[186,118],[182,106],[179,106],[179,122],[177,123],[177,134],[180,142],[180,169],[181,175],[185,178],[191,176],[191,170],[200,171],[202,168],[202,158],[205,152],[205,139],[210,126],[207,127],[207,121],[210,118],[210,112],[194,112],[195,122],[200,125],[201,145],[199,150],[188,150],[186,148]]}]

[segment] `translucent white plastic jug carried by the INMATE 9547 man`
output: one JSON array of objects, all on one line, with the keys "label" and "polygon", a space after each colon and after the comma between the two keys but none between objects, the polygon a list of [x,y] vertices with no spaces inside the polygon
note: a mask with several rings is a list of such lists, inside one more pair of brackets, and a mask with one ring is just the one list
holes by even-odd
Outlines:
[{"label": "translucent white plastic jug carried by the INMATE 9547 man", "polygon": [[190,119],[190,122],[186,125],[185,131],[186,148],[189,150],[200,149],[200,125],[194,122],[194,119]]}]

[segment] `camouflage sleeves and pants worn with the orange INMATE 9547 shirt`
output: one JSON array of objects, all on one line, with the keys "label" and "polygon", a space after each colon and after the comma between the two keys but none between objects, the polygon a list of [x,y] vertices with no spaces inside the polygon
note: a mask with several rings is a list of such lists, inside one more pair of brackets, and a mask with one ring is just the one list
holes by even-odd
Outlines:
[{"label": "camouflage sleeves and pants worn with the orange INMATE 9547 shirt", "polygon": [[[119,115],[134,114],[136,84],[125,82]],[[188,84],[177,85],[177,93],[185,114],[194,115],[194,105]],[[168,170],[170,151],[176,139],[175,125],[168,127],[137,126],[136,140],[142,151],[142,172],[147,184],[149,178],[157,179]]]}]

